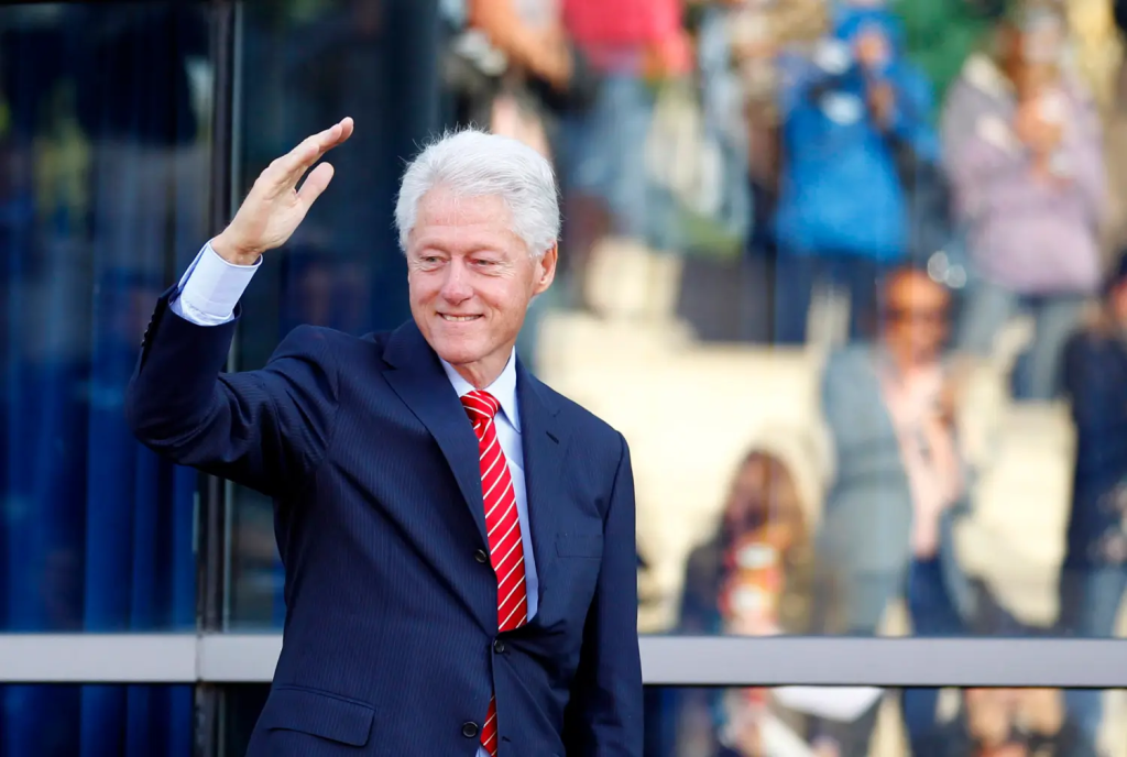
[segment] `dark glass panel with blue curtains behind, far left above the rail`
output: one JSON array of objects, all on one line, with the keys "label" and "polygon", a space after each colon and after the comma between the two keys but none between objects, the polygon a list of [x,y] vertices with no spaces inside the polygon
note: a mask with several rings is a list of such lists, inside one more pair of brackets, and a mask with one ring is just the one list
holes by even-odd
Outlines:
[{"label": "dark glass panel with blue curtains behind, far left above the rail", "polygon": [[196,477],[123,394],[206,228],[207,55],[202,6],[0,8],[0,631],[195,627]]}]

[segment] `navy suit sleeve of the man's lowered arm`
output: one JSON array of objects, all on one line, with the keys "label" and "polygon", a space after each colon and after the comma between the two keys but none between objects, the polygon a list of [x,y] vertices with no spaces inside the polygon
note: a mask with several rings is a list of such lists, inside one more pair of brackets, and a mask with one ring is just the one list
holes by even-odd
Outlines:
[{"label": "navy suit sleeve of the man's lowered arm", "polygon": [[603,563],[584,627],[564,741],[574,757],[641,757],[642,684],[638,651],[638,558],[633,471],[621,456],[603,529]]}]

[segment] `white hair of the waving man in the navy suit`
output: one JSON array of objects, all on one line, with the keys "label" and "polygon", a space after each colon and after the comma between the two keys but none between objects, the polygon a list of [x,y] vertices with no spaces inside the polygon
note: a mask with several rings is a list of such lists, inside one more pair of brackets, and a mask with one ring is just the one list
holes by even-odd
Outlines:
[{"label": "white hair of the waving man in the navy suit", "polygon": [[517,140],[473,128],[447,132],[408,166],[399,185],[396,228],[399,246],[418,219],[423,197],[443,186],[460,197],[500,197],[512,214],[512,231],[539,258],[560,235],[560,205],[551,163]]}]

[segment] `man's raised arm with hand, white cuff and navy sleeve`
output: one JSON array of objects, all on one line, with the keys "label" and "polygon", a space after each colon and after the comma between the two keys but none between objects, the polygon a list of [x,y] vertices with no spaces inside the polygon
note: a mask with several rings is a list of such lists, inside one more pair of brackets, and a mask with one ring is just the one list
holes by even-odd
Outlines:
[{"label": "man's raised arm with hand, white cuff and navy sleeve", "polygon": [[300,486],[320,462],[337,403],[329,332],[294,330],[261,371],[222,369],[247,271],[293,234],[332,167],[318,166],[300,192],[298,182],[352,130],[346,118],[270,163],[231,224],[158,301],[125,398],[130,427],[150,448],[267,495]]}]

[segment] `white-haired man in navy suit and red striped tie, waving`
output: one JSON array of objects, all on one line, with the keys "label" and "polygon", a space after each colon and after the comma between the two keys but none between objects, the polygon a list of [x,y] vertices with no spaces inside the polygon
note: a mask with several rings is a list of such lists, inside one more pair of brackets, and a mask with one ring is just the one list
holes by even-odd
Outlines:
[{"label": "white-haired man in navy suit and red striped tie, waving", "polygon": [[127,413],[275,500],[284,645],[249,754],[641,754],[633,477],[621,435],[515,356],[556,271],[547,161],[461,132],[403,177],[414,320],[300,327],[220,373],[239,295],[328,186],[346,118],[275,160],[158,303]]}]

